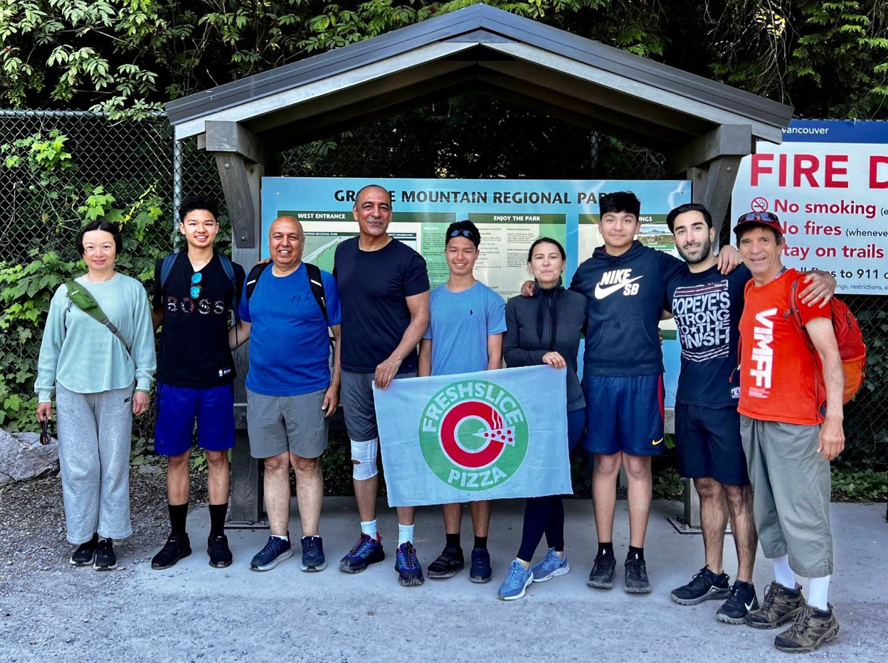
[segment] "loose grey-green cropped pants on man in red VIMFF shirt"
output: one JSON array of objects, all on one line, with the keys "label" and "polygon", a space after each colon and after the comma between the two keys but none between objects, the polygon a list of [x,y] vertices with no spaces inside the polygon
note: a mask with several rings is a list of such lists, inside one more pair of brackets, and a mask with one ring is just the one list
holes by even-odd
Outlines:
[{"label": "loose grey-green cropped pants on man in red VIMFF shirt", "polygon": [[833,572],[829,462],[817,453],[820,430],[740,417],[758,541],[768,559],[788,555],[789,568],[803,578]]}]

